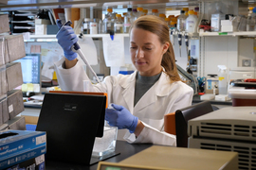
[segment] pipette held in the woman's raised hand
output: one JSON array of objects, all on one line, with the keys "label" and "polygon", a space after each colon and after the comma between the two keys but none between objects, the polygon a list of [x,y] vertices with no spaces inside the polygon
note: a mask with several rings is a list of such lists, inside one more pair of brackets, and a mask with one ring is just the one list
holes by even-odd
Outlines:
[{"label": "pipette held in the woman's raised hand", "polygon": [[[62,27],[62,26],[70,26],[72,23],[71,21],[68,21],[66,22],[64,25],[62,25],[62,20],[57,20],[57,23],[59,25],[59,29]],[[72,51],[76,52],[79,54],[79,56],[81,57],[81,59],[83,60],[83,62],[86,64],[86,66],[89,68],[89,70],[92,72],[93,76],[96,77],[97,81],[100,83],[100,79],[99,77],[96,75],[96,73],[94,72],[93,68],[90,66],[88,60],[84,57],[83,53],[82,53],[82,50],[80,48],[80,45],[78,42],[74,43],[73,46],[72,46]]]}]

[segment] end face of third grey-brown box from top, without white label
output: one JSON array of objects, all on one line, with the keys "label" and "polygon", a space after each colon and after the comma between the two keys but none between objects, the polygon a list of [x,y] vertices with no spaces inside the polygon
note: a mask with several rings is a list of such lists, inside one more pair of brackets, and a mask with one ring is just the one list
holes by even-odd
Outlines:
[{"label": "end face of third grey-brown box from top, without white label", "polygon": [[11,62],[7,65],[8,91],[23,84],[22,68],[20,62]]}]

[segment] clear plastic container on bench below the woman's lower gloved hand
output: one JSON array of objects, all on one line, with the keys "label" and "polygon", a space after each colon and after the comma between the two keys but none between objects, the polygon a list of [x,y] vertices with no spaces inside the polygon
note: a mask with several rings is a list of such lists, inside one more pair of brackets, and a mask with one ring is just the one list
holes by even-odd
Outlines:
[{"label": "clear plastic container on bench below the woman's lower gloved hand", "polygon": [[103,137],[95,138],[92,157],[101,158],[115,152],[118,127],[104,127]]}]

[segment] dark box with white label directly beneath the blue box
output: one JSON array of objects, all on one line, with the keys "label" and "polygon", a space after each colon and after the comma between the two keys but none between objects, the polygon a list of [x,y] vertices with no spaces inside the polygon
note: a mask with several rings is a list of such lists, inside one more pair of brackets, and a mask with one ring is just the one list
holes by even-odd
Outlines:
[{"label": "dark box with white label directly beneath the blue box", "polygon": [[4,170],[46,170],[45,154],[39,157],[23,161]]}]

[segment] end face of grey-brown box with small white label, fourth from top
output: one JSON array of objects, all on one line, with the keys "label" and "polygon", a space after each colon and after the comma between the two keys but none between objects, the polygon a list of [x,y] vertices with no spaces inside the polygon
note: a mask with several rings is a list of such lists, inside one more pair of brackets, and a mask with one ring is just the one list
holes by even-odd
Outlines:
[{"label": "end face of grey-brown box with small white label, fourth from top", "polygon": [[8,92],[9,119],[24,111],[23,95],[21,90],[12,90]]}]

